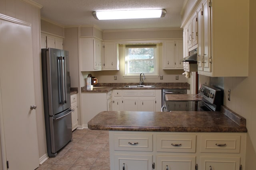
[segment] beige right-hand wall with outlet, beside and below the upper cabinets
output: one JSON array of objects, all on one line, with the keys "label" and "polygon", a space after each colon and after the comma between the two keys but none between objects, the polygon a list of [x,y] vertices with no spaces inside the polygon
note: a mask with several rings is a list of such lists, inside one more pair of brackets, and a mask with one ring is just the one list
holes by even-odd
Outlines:
[{"label": "beige right-hand wall with outlet, beside and below the upper cabinets", "polygon": [[[224,78],[224,105],[246,118],[246,170],[256,167],[256,112],[255,112],[255,84],[256,84],[256,1],[250,0],[250,27],[249,27],[249,76]],[[242,57],[242,56],[241,56]],[[228,89],[231,90],[228,101]]]}]

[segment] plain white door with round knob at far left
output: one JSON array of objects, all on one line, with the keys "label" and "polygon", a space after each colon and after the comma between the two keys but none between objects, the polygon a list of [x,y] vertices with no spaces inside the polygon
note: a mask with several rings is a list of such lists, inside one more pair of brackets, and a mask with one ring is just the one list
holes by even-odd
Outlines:
[{"label": "plain white door with round knob at far left", "polygon": [[3,157],[9,170],[33,170],[39,153],[36,111],[30,109],[35,105],[31,27],[0,20],[0,37]]}]

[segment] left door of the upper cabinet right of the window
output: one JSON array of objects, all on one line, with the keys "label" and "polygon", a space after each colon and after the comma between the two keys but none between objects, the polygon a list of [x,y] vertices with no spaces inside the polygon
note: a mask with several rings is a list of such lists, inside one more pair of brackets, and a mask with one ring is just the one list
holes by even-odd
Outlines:
[{"label": "left door of the upper cabinet right of the window", "polygon": [[175,67],[175,41],[165,41],[163,43],[163,68]]}]

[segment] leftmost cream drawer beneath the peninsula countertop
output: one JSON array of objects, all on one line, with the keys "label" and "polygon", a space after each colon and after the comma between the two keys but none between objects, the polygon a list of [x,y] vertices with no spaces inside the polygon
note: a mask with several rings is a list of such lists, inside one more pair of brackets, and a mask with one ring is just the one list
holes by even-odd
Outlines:
[{"label": "leftmost cream drawer beneath the peninsula countertop", "polygon": [[152,151],[153,135],[114,134],[114,150]]}]

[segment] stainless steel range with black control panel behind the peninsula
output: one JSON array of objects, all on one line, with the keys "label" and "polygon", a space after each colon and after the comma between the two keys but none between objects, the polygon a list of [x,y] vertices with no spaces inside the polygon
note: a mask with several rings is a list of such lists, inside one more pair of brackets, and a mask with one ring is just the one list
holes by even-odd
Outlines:
[{"label": "stainless steel range with black control panel behind the peninsula", "polygon": [[162,111],[220,111],[223,90],[203,84],[199,91],[197,95],[167,94]]}]

